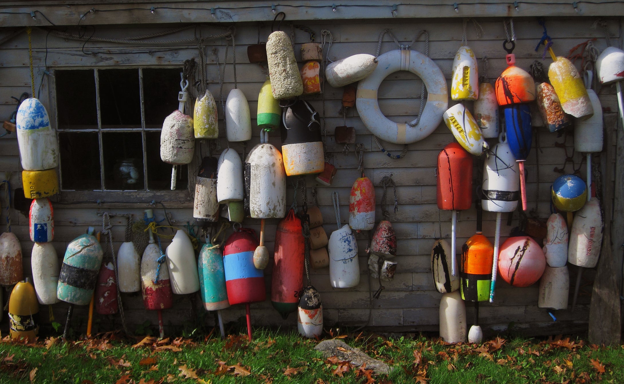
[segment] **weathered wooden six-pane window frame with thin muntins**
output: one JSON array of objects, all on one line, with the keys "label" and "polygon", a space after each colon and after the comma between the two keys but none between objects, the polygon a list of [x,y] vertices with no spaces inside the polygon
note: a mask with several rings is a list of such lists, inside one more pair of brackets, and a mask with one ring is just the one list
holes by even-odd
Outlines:
[{"label": "weathered wooden six-pane window frame with thin muntins", "polygon": [[[144,79],[143,70],[147,68],[154,69],[168,69],[179,68],[181,65],[85,65],[85,66],[59,66],[54,67],[52,70],[52,76],[50,77],[49,87],[49,100],[51,121],[55,123],[56,138],[60,145],[59,133],[65,132],[90,132],[97,133],[98,145],[99,145],[99,161],[100,161],[100,184],[101,190],[65,190],[62,186],[62,166],[59,161],[58,173],[59,173],[59,197],[62,201],[76,202],[76,203],[90,203],[90,202],[106,202],[106,203],[145,203],[146,201],[169,201],[176,203],[192,203],[193,191],[195,188],[195,173],[193,170],[197,168],[197,156],[193,156],[193,161],[187,165],[188,173],[188,185],[187,188],[177,188],[176,190],[150,190],[148,188],[148,173],[147,173],[147,152],[145,148],[147,146],[146,132],[160,132],[160,128],[146,128],[145,127],[145,98],[144,98]],[[98,70],[106,69],[136,69],[139,71],[139,98],[140,98],[140,116],[141,127],[140,128],[102,128],[102,115],[100,110],[100,90],[99,90],[99,72]],[[72,128],[60,128],[57,117],[57,101],[56,101],[56,74],[57,70],[93,70],[95,81],[95,102],[97,112],[97,128],[87,129],[72,129]],[[190,98],[189,98],[190,100]],[[189,103],[185,105],[185,110],[188,112]],[[142,140],[142,155],[143,155],[143,175],[144,175],[144,189],[142,190],[107,190],[105,187],[104,176],[104,148],[102,133],[124,133],[124,132],[140,132]]]}]

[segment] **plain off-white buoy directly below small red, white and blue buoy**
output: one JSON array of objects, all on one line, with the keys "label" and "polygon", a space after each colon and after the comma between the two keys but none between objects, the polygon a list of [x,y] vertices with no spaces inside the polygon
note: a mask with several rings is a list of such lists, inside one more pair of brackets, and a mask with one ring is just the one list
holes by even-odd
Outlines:
[{"label": "plain off-white buoy directly below small red, white and blue buoy", "polygon": [[37,292],[39,304],[54,304],[60,300],[56,297],[59,284],[59,257],[50,242],[36,242],[31,254],[32,283]]}]

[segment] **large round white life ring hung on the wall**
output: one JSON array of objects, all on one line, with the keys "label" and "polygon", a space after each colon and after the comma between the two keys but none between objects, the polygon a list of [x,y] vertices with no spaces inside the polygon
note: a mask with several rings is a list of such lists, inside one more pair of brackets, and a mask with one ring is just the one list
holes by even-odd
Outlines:
[{"label": "large round white life ring hung on the wall", "polygon": [[[356,105],[359,117],[373,135],[386,142],[409,144],[426,138],[440,125],[442,113],[449,105],[446,79],[442,71],[433,60],[416,50],[391,50],[377,59],[377,68],[358,84]],[[409,70],[418,75],[427,87],[427,103],[414,127],[409,124],[415,124],[416,120],[407,124],[395,123],[386,118],[379,109],[379,84],[386,76],[399,70]]]}]

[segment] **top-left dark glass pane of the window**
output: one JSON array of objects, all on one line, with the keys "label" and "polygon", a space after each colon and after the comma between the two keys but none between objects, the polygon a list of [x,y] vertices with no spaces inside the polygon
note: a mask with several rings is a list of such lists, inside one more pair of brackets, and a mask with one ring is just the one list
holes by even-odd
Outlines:
[{"label": "top-left dark glass pane of the window", "polygon": [[54,79],[59,128],[97,129],[93,70],[55,70]]}]

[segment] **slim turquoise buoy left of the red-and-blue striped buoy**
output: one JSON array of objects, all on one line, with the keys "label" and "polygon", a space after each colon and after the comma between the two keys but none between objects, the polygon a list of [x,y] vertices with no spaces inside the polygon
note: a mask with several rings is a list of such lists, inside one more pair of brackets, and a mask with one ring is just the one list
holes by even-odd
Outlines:
[{"label": "slim turquoise buoy left of the red-and-blue striped buoy", "polygon": [[225,267],[223,267],[223,253],[219,246],[210,243],[206,237],[197,259],[200,294],[203,307],[206,310],[220,310],[230,306],[228,291],[225,287]]}]

